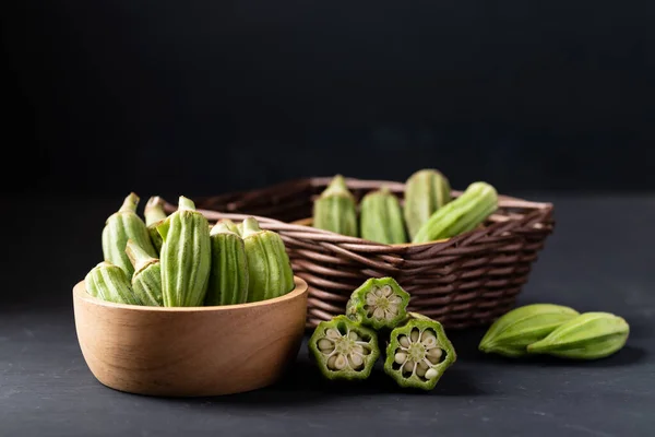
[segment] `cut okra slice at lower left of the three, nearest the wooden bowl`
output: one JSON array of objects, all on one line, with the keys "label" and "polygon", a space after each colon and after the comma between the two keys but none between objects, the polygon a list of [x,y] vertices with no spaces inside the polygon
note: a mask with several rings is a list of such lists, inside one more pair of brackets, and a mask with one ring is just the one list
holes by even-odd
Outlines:
[{"label": "cut okra slice at lower left of the three, nearest the wooden bowl", "polygon": [[309,351],[327,379],[366,379],[380,356],[376,332],[346,316],[320,322]]}]

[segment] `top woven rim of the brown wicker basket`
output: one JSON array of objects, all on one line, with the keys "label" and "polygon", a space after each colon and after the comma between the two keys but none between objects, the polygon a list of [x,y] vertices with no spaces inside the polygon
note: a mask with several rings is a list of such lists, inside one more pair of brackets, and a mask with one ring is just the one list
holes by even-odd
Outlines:
[{"label": "top woven rim of the brown wicker basket", "polygon": [[[254,190],[249,190],[249,191],[234,192],[231,194],[238,196],[238,194],[252,193],[255,191],[271,190],[271,189],[274,189],[276,186],[283,186],[283,185],[287,186],[287,185],[290,185],[294,182],[296,182],[296,184],[309,182],[309,185],[312,187],[321,187],[321,186],[325,186],[325,185],[330,184],[331,180],[332,180],[332,177],[311,177],[311,178],[288,180],[288,181],[281,182],[278,185],[274,185],[274,186],[270,186],[270,187],[266,187],[263,189],[254,189]],[[356,188],[356,189],[378,189],[380,187],[380,185],[385,185],[392,191],[402,192],[402,191],[404,191],[404,188],[405,188],[404,182],[392,181],[392,180],[370,180],[370,179],[357,179],[357,178],[348,178],[348,177],[346,177],[345,180],[349,188]],[[451,190],[451,192],[453,196],[456,197],[456,196],[460,196],[463,191]],[[171,213],[177,210],[177,206],[174,205],[172,203],[170,203],[164,199],[162,199],[162,200],[164,202],[164,210],[166,212]],[[511,196],[504,196],[504,194],[500,194],[500,193],[498,194],[498,205],[499,205],[499,208],[522,208],[522,209],[527,209],[527,210],[534,210],[534,211],[532,211],[532,213],[539,211],[541,214],[548,214],[555,208],[553,204],[550,202],[534,202],[534,201],[514,198]],[[196,211],[202,213],[207,220],[212,220],[212,221],[218,221],[222,218],[229,218],[229,220],[234,220],[234,221],[243,221],[247,217],[254,217],[254,218],[257,218],[258,222],[260,222],[261,227],[264,229],[276,231],[276,232],[284,231],[285,233],[290,233],[290,234],[293,234],[293,236],[298,237],[298,238],[308,238],[309,237],[309,238],[313,239],[317,236],[321,236],[321,241],[334,243],[334,244],[354,244],[354,245],[357,245],[361,249],[369,248],[370,250],[376,250],[376,251],[380,250],[381,248],[385,248],[388,250],[388,252],[393,252],[396,250],[404,250],[407,248],[419,248],[419,247],[444,245],[444,244],[452,243],[453,239],[460,239],[462,237],[465,238],[465,237],[474,234],[476,231],[479,231],[479,229],[472,229],[472,231],[468,231],[466,233],[463,233],[463,234],[457,235],[452,238],[439,239],[439,240],[428,241],[428,243],[405,243],[402,245],[388,245],[388,244],[383,244],[383,243],[376,243],[376,241],[367,240],[367,239],[359,238],[359,237],[350,237],[350,236],[337,234],[337,233],[334,233],[331,231],[319,229],[319,228],[310,227],[307,225],[300,225],[295,222],[286,223],[283,221],[278,221],[275,218],[261,216],[261,215],[228,213],[228,212],[219,212],[219,211],[206,210],[206,209],[198,209]],[[531,214],[531,212],[521,214],[520,217],[492,214],[490,216],[490,218],[492,222],[495,222],[492,224],[492,226],[493,226],[493,225],[498,225],[502,222],[509,222],[509,221],[513,221],[513,220],[524,218],[528,214]]]}]

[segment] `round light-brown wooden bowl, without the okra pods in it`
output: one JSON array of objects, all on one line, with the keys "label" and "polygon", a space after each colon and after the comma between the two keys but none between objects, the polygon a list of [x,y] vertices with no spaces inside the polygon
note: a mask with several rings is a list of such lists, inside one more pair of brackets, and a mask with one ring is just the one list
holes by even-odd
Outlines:
[{"label": "round light-brown wooden bowl, without the okra pods in it", "polygon": [[216,307],[112,304],[73,288],[84,359],[107,387],[131,393],[200,397],[275,382],[298,354],[307,283],[269,300]]}]

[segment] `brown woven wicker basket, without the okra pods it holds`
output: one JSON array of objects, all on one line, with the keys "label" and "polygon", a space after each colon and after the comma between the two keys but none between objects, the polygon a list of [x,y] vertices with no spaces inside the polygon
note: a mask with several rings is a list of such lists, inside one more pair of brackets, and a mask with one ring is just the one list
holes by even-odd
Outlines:
[{"label": "brown woven wicker basket, without the okra pods it holds", "polygon": [[[505,196],[499,197],[499,210],[485,226],[421,245],[389,246],[293,223],[311,216],[313,199],[330,180],[294,180],[198,201],[210,220],[255,215],[263,228],[279,233],[295,274],[310,286],[309,328],[343,314],[353,290],[370,276],[395,277],[412,295],[412,310],[448,328],[487,324],[514,306],[553,228],[552,204]],[[401,198],[404,191],[401,182],[347,179],[347,184],[358,199],[382,185]],[[458,194],[453,191],[453,197]]]}]

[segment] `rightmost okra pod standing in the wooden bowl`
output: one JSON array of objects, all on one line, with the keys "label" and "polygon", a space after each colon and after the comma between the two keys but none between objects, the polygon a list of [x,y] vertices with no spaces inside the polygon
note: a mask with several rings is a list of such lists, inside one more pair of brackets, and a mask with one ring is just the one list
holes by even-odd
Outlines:
[{"label": "rightmost okra pod standing in the wooden bowl", "polygon": [[260,228],[254,217],[243,221],[241,235],[248,259],[248,302],[272,299],[294,290],[294,272],[282,237]]}]

